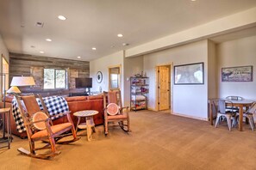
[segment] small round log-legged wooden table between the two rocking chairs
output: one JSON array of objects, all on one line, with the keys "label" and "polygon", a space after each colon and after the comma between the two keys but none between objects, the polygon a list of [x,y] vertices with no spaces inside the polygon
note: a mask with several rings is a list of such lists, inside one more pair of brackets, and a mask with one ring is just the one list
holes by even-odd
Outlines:
[{"label": "small round log-legged wooden table between the two rocking chairs", "polygon": [[[87,140],[92,140],[92,132],[95,132],[95,124],[93,121],[93,116],[96,115],[98,112],[94,110],[85,110],[85,111],[79,111],[74,112],[74,116],[78,117],[78,124],[76,127],[76,131],[78,132],[79,129],[86,129],[87,130]],[[86,118],[86,123],[80,124],[81,118]]]}]

